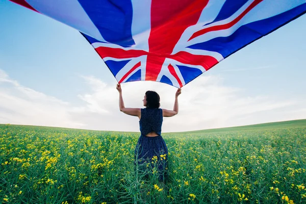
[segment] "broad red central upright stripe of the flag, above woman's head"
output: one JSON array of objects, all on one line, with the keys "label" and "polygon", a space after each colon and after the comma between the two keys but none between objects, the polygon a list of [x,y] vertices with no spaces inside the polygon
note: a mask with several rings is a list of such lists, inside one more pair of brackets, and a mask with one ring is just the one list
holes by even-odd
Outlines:
[{"label": "broad red central upright stripe of the flag, above woman's head", "polygon": [[152,0],[145,80],[157,80],[165,56],[172,53],[183,32],[196,24],[207,3],[208,0]]}]

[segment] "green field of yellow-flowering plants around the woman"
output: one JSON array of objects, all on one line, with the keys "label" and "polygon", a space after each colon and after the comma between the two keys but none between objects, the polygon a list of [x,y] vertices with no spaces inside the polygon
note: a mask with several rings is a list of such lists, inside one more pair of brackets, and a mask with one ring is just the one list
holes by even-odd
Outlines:
[{"label": "green field of yellow-flowering plants around the woman", "polygon": [[135,171],[139,133],[0,124],[0,134],[4,203],[306,203],[306,120],[164,133],[166,184]]}]

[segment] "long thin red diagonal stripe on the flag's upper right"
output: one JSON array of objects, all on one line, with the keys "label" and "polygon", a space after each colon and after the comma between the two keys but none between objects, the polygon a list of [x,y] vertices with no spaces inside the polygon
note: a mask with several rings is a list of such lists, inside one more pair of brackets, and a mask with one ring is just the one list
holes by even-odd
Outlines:
[{"label": "long thin red diagonal stripe on the flag's upper right", "polygon": [[234,24],[236,24],[243,16],[245,16],[252,8],[256,7],[259,3],[261,3],[263,0],[255,0],[245,11],[243,11],[237,18],[235,18],[233,21],[223,24],[223,25],[215,25],[213,27],[209,27],[200,31],[195,32],[188,41],[192,40],[195,37],[198,37],[200,35],[206,34],[208,32],[212,31],[218,31],[218,30],[225,30],[228,28],[231,28]]}]

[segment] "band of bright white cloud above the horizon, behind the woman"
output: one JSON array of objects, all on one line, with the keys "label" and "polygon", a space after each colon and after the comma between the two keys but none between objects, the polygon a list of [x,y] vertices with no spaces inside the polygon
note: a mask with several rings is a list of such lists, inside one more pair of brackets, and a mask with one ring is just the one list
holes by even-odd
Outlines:
[{"label": "band of bright white cloud above the horizon, behind the woman", "polygon": [[[78,95],[85,101],[84,106],[23,87],[0,70],[0,123],[139,131],[138,117],[119,111],[115,84],[106,84],[93,76],[79,77],[90,88]],[[145,91],[155,90],[161,96],[161,108],[173,108],[175,87],[157,82],[130,82],[121,87],[125,107],[142,108]],[[306,101],[242,96],[242,91],[224,86],[219,77],[198,77],[182,88],[179,114],[164,118],[163,132],[306,118]]]}]

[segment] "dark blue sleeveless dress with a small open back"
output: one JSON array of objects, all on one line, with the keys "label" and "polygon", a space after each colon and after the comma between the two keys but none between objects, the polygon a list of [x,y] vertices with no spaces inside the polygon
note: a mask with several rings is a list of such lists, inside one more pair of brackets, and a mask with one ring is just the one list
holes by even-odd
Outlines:
[{"label": "dark blue sleeveless dress with a small open back", "polygon": [[[161,136],[162,123],[162,109],[141,109],[141,118],[139,120],[141,135],[135,148],[134,161],[135,167],[138,163],[138,172],[144,173],[145,178],[147,178],[149,174],[152,175],[153,173],[156,173],[160,182],[168,179],[168,148]],[[146,136],[152,131],[155,131],[158,136]],[[148,166],[151,168],[148,168]]]}]

